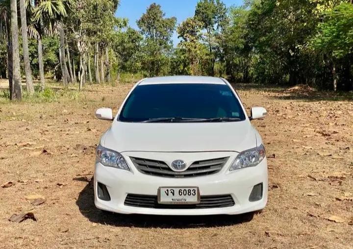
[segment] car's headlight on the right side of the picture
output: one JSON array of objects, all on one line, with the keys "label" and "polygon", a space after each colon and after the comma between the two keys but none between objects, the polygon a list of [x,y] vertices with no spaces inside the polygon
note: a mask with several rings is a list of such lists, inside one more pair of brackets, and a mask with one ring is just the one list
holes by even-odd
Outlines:
[{"label": "car's headlight on the right side of the picture", "polygon": [[244,150],[237,155],[230,166],[229,171],[256,166],[265,158],[265,156],[266,151],[263,145],[253,149]]}]

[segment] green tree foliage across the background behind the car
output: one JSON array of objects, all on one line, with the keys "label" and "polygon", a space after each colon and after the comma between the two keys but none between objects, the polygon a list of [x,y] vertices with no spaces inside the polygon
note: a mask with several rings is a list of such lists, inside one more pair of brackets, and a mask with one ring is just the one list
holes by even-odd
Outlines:
[{"label": "green tree foliage across the background behind the car", "polygon": [[[36,3],[27,4],[35,76],[38,35],[46,76],[60,76],[56,33],[63,25],[76,75],[84,75],[83,65],[90,58],[97,81],[101,75],[108,79],[109,71],[122,83],[156,75],[216,75],[232,81],[353,89],[351,0],[245,0],[243,6],[229,8],[222,0],[199,0],[195,15],[177,28],[176,18],[166,17],[162,7],[152,3],[137,20],[138,29],[115,17],[119,0]],[[8,0],[0,1],[0,77],[7,68],[8,14]],[[173,48],[175,30],[180,42]],[[59,92],[44,90],[36,96],[51,101]]]}]

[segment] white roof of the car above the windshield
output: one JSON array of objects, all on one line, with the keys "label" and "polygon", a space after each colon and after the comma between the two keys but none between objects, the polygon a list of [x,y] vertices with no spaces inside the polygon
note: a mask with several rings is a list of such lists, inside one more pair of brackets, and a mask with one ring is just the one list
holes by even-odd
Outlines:
[{"label": "white roof of the car above the windshield", "polygon": [[143,79],[139,85],[153,84],[219,84],[226,85],[222,78],[210,76],[163,76]]}]

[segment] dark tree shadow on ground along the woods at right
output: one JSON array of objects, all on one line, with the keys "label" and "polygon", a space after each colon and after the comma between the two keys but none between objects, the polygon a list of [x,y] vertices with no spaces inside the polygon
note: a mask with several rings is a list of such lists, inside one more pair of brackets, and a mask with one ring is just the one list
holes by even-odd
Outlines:
[{"label": "dark tree shadow on ground along the woods at right", "polygon": [[234,83],[235,90],[241,91],[263,91],[270,93],[270,99],[275,100],[302,100],[302,101],[353,101],[352,92],[319,91],[306,85],[294,87],[281,87],[278,85],[261,85],[254,83]]}]

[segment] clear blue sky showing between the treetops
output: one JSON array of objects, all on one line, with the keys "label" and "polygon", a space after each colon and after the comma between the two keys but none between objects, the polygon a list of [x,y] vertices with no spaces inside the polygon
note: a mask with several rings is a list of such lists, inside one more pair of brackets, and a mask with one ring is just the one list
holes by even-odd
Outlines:
[{"label": "clear blue sky showing between the treetops", "polygon": [[[161,5],[162,10],[166,13],[166,17],[175,16],[177,24],[179,24],[186,18],[194,15],[198,0],[121,0],[116,16],[128,18],[129,25],[137,28],[136,20],[146,12],[147,7],[152,2]],[[223,0],[223,2],[229,7],[231,5],[241,5],[243,0]],[[176,32],[173,35],[173,41],[174,45],[178,42]]]}]

